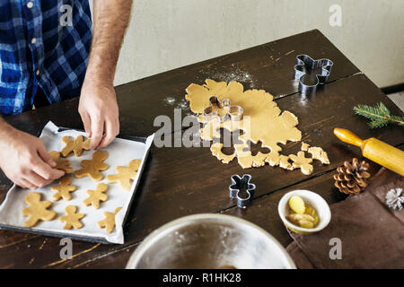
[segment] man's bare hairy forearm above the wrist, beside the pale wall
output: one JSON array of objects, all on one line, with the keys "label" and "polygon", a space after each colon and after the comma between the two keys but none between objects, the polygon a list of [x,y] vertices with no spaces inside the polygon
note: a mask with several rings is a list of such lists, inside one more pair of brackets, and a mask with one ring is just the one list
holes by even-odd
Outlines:
[{"label": "man's bare hairy forearm above the wrist, beside the pale wall", "polygon": [[92,48],[85,78],[113,83],[132,0],[94,0]]}]

